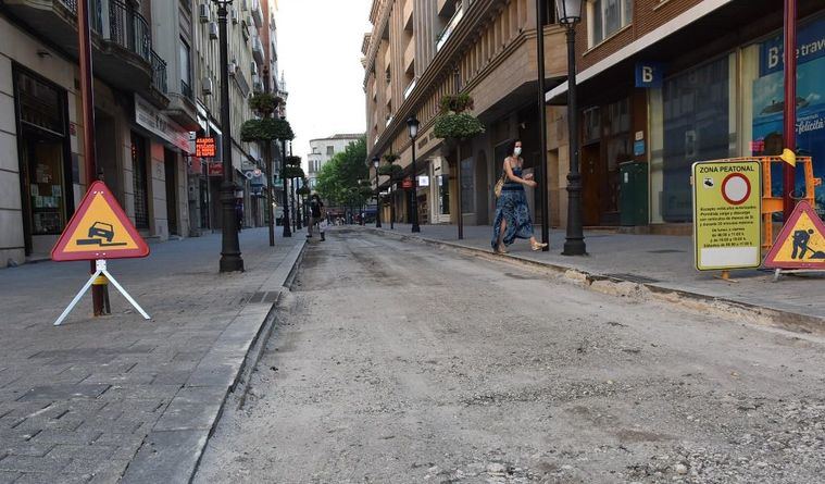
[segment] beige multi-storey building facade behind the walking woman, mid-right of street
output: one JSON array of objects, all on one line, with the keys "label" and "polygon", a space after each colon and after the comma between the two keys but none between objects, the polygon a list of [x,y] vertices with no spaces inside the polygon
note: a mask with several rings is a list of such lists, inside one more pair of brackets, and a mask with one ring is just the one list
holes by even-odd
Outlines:
[{"label": "beige multi-storey building facade behind the walking woman, mid-right of street", "polygon": [[[417,179],[422,223],[455,223],[459,210],[465,224],[490,223],[495,213],[492,185],[505,158],[507,146],[522,139],[527,167],[537,166],[539,102],[537,36],[545,42],[546,82],[552,87],[566,75],[564,30],[554,23],[552,1],[537,22],[535,0],[375,0],[364,38],[367,149],[370,158],[398,154],[407,176]],[[541,24],[541,28],[537,28]],[[486,133],[455,147],[433,134],[443,95],[465,92],[475,100],[473,114]],[[416,142],[417,173],[410,172],[412,150],[407,119],[421,122]],[[550,153],[557,157],[555,153]],[[454,177],[462,163],[462,179]],[[553,160],[551,166],[558,166]],[[549,173],[551,184],[558,173]],[[380,177],[386,189],[387,177]],[[542,183],[558,191],[558,184]],[[457,207],[457,190],[462,204]],[[409,220],[410,190],[391,187],[389,197],[399,221]],[[532,200],[540,194],[529,193]],[[558,196],[557,196],[558,197]],[[532,203],[534,218],[540,215]],[[551,206],[551,223],[559,220]],[[389,208],[383,216],[389,219]],[[536,219],[540,221],[539,219]]]}]

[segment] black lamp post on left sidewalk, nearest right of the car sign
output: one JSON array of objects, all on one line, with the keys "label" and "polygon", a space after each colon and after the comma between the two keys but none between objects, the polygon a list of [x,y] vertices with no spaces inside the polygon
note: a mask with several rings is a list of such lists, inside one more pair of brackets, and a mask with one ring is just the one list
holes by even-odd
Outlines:
[{"label": "black lamp post on left sidewalk, nearest right of the car sign", "polygon": [[223,204],[221,272],[243,271],[238,240],[238,214],[235,210],[235,183],[232,164],[232,123],[229,122],[229,38],[226,33],[226,7],[233,0],[212,0],[217,4],[217,24],[221,36],[221,128],[223,129],[223,167],[224,179],[221,184],[221,203]]}]

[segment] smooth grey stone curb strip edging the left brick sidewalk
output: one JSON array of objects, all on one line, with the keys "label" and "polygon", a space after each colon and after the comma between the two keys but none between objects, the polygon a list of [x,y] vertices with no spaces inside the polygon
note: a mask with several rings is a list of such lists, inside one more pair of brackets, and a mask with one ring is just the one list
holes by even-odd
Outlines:
[{"label": "smooth grey stone curb strip edging the left brick sidewalk", "polygon": [[121,482],[191,482],[229,394],[255,364],[252,350],[268,334],[274,308],[305,247],[304,240],[298,243],[261,285],[265,302],[247,303],[227,325],[143,439]]}]

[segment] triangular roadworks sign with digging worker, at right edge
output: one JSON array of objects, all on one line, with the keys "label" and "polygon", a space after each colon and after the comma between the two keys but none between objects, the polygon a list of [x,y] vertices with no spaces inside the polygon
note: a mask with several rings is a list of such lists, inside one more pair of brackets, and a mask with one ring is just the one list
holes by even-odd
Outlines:
[{"label": "triangular roadworks sign with digging worker, at right edge", "polygon": [[765,266],[825,271],[825,223],[807,200],[793,209],[765,257]]}]

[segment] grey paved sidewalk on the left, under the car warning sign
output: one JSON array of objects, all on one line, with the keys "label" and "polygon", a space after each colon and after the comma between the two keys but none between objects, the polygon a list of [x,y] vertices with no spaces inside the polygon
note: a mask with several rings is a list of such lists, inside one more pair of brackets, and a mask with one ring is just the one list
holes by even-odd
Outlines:
[{"label": "grey paved sidewalk on the left, under the car warning sign", "polygon": [[87,295],[53,327],[88,263],[0,270],[0,483],[188,482],[304,234],[243,231],[242,274],[218,274],[220,234],[110,262],[151,321],[111,287],[112,317]]}]

